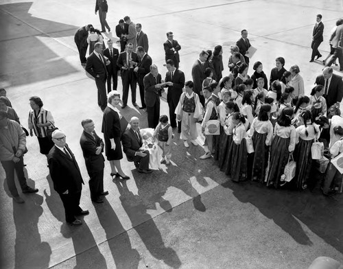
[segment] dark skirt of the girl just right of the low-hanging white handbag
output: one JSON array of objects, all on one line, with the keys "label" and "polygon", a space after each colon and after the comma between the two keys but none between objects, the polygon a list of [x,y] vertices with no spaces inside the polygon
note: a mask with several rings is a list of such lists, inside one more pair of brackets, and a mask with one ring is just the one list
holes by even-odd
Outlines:
[{"label": "dark skirt of the girl just right of the low-hanging white handbag", "polygon": [[294,151],[294,158],[296,159],[296,176],[292,186],[296,186],[296,189],[306,189],[307,181],[311,173],[312,167],[312,155],[311,145],[314,143],[312,140],[300,139],[296,150]]}]

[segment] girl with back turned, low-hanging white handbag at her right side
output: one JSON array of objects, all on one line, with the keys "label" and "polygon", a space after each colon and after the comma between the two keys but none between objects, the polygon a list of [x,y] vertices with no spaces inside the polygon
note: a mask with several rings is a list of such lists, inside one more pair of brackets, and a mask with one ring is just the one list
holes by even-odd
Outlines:
[{"label": "girl with back turned, low-hanging white handbag at her right side", "polygon": [[296,128],[291,124],[294,110],[284,108],[274,128],[274,139],[270,150],[270,165],[267,186],[280,186],[280,178],[296,145]]}]

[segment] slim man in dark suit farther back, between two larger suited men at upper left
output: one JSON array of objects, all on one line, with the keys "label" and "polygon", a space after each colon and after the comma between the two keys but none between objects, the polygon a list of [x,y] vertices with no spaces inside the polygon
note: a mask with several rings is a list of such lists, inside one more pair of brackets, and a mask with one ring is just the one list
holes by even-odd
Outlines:
[{"label": "slim man in dark suit farther back, between two larger suited men at upper left", "polygon": [[119,56],[119,51],[115,47],[113,47],[113,40],[108,39],[107,41],[108,48],[104,50],[104,56],[110,60],[110,64],[107,65],[107,92],[109,93],[112,91],[112,87],[110,85],[110,81],[113,78],[113,91],[117,90],[118,85],[118,70],[117,67],[117,60]]}]

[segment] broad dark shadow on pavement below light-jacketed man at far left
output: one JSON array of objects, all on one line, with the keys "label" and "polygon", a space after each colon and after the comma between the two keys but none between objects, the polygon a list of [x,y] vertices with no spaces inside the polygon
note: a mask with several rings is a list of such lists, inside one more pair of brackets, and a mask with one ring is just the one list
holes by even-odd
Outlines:
[{"label": "broad dark shadow on pavement below light-jacketed man at far left", "polygon": [[13,202],[13,218],[16,227],[14,268],[49,268],[51,248],[40,241],[38,220],[43,213],[40,206],[43,197],[38,194],[25,195],[25,204]]}]

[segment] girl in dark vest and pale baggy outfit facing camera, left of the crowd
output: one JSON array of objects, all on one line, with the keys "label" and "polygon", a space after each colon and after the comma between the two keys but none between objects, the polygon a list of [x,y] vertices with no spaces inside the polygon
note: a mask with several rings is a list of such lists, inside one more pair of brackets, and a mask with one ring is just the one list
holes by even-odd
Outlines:
[{"label": "girl in dark vest and pale baggy outfit facing camera, left of the crowd", "polygon": [[181,121],[180,139],[186,148],[189,148],[188,141],[193,145],[198,145],[196,139],[198,131],[196,122],[202,119],[202,104],[200,104],[199,95],[193,92],[193,82],[190,80],[185,83],[185,92],[181,94],[178,106],[176,106],[176,119]]}]

